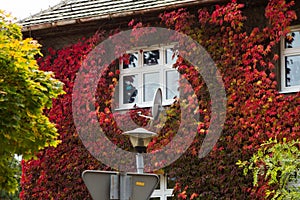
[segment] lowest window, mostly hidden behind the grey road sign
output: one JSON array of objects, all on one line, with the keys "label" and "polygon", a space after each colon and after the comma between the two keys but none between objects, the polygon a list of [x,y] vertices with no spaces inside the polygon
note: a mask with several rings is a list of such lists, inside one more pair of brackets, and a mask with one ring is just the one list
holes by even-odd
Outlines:
[{"label": "lowest window, mostly hidden behind the grey road sign", "polygon": [[167,175],[159,175],[159,185],[151,195],[150,200],[170,200],[173,196],[175,180]]}]

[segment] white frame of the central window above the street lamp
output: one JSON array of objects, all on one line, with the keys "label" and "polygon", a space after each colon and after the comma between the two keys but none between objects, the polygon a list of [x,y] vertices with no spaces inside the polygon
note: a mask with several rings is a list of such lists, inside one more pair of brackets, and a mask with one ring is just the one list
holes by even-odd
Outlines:
[{"label": "white frame of the central window above the street lamp", "polygon": [[[126,53],[138,53],[138,66],[135,68],[127,68],[123,69],[123,63],[120,63],[120,80],[119,80],[119,107],[117,110],[123,110],[123,109],[130,109],[133,107],[133,105],[137,105],[140,108],[143,107],[151,107],[152,106],[152,100],[151,101],[143,101],[144,97],[144,90],[143,90],[143,77],[144,74],[149,73],[159,73],[159,80],[158,83],[159,87],[162,89],[163,94],[163,105],[170,105],[174,102],[174,99],[166,99],[167,91],[167,72],[168,71],[177,71],[173,68],[172,64],[166,63],[166,50],[169,48],[174,48],[174,45],[156,45],[151,47],[139,47],[132,49]],[[142,49],[142,51],[141,51]],[[151,66],[144,66],[143,65],[143,53],[146,51],[152,51],[152,50],[159,50],[160,52],[160,63],[157,65],[151,65]],[[133,103],[124,103],[123,102],[123,88],[124,88],[124,82],[123,78],[124,76],[130,76],[130,75],[138,75],[138,95],[137,95],[137,101]],[[179,78],[178,78],[179,81]]]}]

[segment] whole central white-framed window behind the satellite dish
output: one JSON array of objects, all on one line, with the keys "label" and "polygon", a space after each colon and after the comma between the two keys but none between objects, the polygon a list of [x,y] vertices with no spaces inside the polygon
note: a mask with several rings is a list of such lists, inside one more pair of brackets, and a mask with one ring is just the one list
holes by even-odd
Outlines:
[{"label": "whole central white-framed window behind the satellite dish", "polygon": [[120,64],[118,104],[120,109],[150,107],[157,88],[163,92],[163,104],[169,105],[178,96],[179,73],[172,46],[129,51]]}]

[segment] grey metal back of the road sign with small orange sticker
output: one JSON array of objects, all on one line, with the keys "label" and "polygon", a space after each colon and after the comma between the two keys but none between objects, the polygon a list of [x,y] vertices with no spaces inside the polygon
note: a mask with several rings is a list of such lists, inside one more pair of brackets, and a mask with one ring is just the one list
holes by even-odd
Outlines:
[{"label": "grey metal back of the road sign with small orange sticker", "polygon": [[148,200],[159,183],[156,174],[134,172],[86,170],[82,178],[94,200]]}]

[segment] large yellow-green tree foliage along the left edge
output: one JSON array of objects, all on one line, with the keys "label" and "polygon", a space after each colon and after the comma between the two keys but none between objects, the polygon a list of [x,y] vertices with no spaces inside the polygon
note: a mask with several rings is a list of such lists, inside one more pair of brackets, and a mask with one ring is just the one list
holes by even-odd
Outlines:
[{"label": "large yellow-green tree foliage along the left edge", "polygon": [[17,189],[15,154],[24,159],[45,146],[56,146],[57,130],[44,114],[63,84],[50,72],[38,70],[40,45],[22,39],[21,27],[0,12],[0,188]]}]

